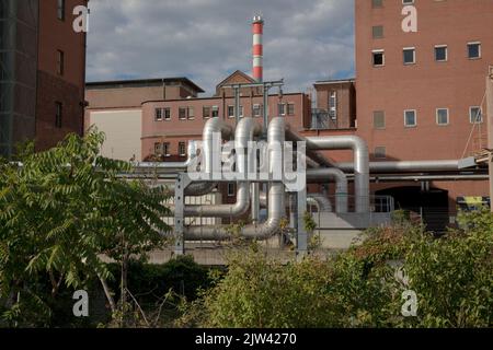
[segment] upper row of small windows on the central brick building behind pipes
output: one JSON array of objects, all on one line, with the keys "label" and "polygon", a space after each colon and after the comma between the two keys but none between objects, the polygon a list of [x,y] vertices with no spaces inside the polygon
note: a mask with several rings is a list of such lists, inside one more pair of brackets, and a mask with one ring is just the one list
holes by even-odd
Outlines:
[{"label": "upper row of small windows on the central brick building behind pipes", "polygon": [[[229,105],[227,107],[228,118],[234,118],[234,106]],[[295,115],[295,104],[294,103],[282,103],[277,105],[277,112],[280,116],[293,116]],[[243,106],[240,106],[239,110],[240,118],[244,116]],[[252,116],[253,117],[262,117],[263,116],[263,105],[254,104],[252,106]],[[202,108],[202,117],[204,119],[208,118],[217,118],[219,117],[219,107],[218,106],[204,106]],[[179,119],[180,120],[194,120],[195,119],[195,108],[194,107],[179,107]],[[154,120],[156,121],[169,121],[171,120],[171,108],[156,108],[154,109]]]}]

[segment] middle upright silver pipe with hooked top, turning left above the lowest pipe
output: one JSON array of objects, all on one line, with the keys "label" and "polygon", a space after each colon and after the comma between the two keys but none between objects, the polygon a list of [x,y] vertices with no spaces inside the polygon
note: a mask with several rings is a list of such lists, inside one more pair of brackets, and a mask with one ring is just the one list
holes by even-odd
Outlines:
[{"label": "middle upright silver pipe with hooked top, turning left above the lowest pipe", "polygon": [[[237,152],[237,170],[248,178],[248,166],[253,162],[246,159],[249,141],[262,133],[260,125],[252,118],[243,118],[237,126],[234,149]],[[185,217],[241,217],[250,209],[250,182],[239,182],[237,202],[234,205],[185,206]]]}]

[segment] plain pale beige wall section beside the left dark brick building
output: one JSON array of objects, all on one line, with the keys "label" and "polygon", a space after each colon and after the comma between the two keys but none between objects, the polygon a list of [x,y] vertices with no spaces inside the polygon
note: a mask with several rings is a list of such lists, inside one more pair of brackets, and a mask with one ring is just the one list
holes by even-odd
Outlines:
[{"label": "plain pale beige wall section beside the left dark brick building", "polygon": [[141,161],[142,110],[90,112],[90,125],[106,135],[101,154],[111,159]]}]

